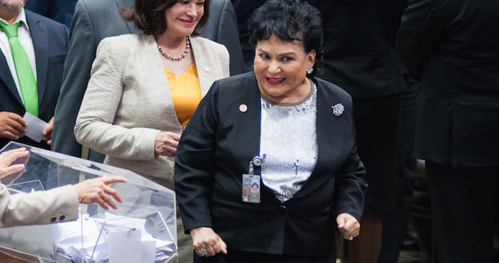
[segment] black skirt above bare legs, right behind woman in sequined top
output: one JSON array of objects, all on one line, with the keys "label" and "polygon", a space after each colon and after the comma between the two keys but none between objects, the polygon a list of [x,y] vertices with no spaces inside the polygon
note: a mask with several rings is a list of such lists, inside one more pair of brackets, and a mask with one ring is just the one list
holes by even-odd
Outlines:
[{"label": "black skirt above bare legs, right behind woman in sequined top", "polygon": [[369,188],[364,213],[395,207],[396,150],[401,95],[354,100],[357,151],[366,167]]}]

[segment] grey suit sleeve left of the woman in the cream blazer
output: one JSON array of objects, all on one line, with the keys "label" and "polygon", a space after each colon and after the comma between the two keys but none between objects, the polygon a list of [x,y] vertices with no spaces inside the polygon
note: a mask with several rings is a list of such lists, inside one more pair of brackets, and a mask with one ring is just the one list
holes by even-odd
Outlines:
[{"label": "grey suit sleeve left of the woman in the cream blazer", "polygon": [[95,55],[96,41],[92,23],[85,4],[78,1],[71,23],[61,94],[54,113],[53,151],[81,157],[81,145],[76,141],[73,127],[90,78]]}]

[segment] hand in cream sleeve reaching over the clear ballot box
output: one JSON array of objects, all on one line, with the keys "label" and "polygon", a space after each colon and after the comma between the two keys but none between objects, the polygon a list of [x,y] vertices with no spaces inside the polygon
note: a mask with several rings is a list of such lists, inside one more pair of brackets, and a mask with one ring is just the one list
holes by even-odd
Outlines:
[{"label": "hand in cream sleeve reaching over the clear ballot box", "polygon": [[113,200],[109,195],[113,196],[115,200],[122,203],[121,196],[118,192],[111,188],[109,185],[111,183],[126,183],[127,180],[121,176],[108,176],[93,178],[83,181],[81,183],[76,183],[74,188],[76,188],[76,193],[78,193],[78,202],[83,204],[88,203],[98,203],[102,208],[108,210],[109,207],[118,209]]}]

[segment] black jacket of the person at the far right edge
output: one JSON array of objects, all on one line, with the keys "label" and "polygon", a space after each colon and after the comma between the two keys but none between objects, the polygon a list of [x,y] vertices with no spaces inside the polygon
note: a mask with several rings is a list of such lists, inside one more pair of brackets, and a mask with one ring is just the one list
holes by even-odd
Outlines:
[{"label": "black jacket of the person at the far right edge", "polygon": [[409,1],[398,51],[421,78],[416,155],[499,165],[499,2]]}]

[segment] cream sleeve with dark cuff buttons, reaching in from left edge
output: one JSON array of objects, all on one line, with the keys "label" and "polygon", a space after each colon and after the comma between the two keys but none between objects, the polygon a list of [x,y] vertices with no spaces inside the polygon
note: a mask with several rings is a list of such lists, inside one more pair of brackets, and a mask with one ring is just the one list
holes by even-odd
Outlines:
[{"label": "cream sleeve with dark cuff buttons, reaching in from left edge", "polygon": [[42,225],[78,218],[78,194],[73,186],[11,195],[0,184],[0,227]]}]

